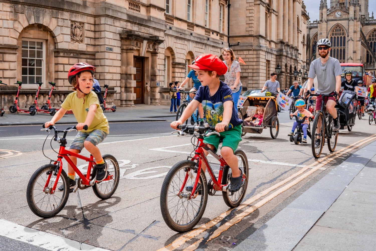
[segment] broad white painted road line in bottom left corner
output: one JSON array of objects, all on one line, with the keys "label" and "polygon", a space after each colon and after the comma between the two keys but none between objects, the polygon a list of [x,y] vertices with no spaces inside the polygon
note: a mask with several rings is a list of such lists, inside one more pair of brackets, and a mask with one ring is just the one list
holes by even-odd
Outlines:
[{"label": "broad white painted road line in bottom left corner", "polygon": [[0,235],[26,242],[34,246],[40,246],[47,250],[90,250],[90,251],[109,251],[108,249],[98,248],[85,243],[77,242],[55,234],[46,233],[32,228],[18,225],[5,219],[0,219]]}]

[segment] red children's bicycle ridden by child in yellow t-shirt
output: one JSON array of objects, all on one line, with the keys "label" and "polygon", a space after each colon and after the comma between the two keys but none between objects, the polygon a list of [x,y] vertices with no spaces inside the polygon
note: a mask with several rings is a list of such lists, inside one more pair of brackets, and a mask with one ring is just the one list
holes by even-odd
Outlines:
[{"label": "red children's bicycle ridden by child in yellow t-shirt", "polygon": [[[55,216],[67,203],[70,192],[75,193],[77,192],[77,189],[87,189],[89,187],[92,187],[98,198],[110,198],[117,189],[120,178],[119,164],[116,158],[109,154],[103,155],[103,160],[108,164],[108,176],[101,182],[97,182],[95,178],[94,180],[91,180],[91,170],[94,169],[93,166],[96,164],[93,156],[90,155],[88,158],[65,149],[67,145],[65,137],[68,132],[77,131],[76,126],[65,130],[57,130],[55,126],[50,126],[49,128],[41,129],[41,131],[51,131],[52,129],[55,132],[53,140],[60,143],[58,158],[56,160],[51,160],[50,164],[39,167],[31,176],[26,190],[27,204],[29,204],[31,211],[42,218]],[[87,130],[88,126],[85,125],[84,129]],[[64,133],[63,136],[58,137],[58,134],[61,132]],[[89,162],[87,173],[81,173],[69,156],[74,156]],[[63,170],[63,158],[79,176],[77,187],[74,190],[70,190],[69,188],[68,176]],[[64,189],[62,191],[59,189],[56,190],[56,187],[61,185],[64,186]]]}]

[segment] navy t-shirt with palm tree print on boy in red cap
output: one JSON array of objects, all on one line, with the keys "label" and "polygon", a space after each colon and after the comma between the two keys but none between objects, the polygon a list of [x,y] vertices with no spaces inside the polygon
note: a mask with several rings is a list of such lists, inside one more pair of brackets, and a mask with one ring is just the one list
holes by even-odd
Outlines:
[{"label": "navy t-shirt with palm tree print on boy in red cap", "polygon": [[[199,90],[194,97],[197,101],[202,103],[202,108],[206,117],[206,121],[211,126],[217,125],[217,123],[222,122],[224,106],[223,103],[232,100],[232,91],[227,84],[220,81],[219,88],[217,92],[213,95],[209,95],[209,87],[200,86]],[[235,106],[232,106],[232,115],[230,119],[230,125],[235,127],[240,125],[243,121],[238,117],[238,111]]]}]

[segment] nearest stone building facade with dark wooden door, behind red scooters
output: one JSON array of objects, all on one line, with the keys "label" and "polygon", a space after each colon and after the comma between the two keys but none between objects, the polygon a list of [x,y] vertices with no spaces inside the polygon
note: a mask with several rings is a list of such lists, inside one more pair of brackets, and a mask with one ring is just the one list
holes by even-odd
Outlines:
[{"label": "nearest stone building facade with dark wooden door, behind red scooters", "polygon": [[[1,1],[0,79],[8,84],[23,82],[20,104],[26,107],[33,99],[34,82],[44,82],[42,93],[49,90],[49,81],[55,82],[57,106],[71,90],[70,66],[88,62],[97,67],[100,85],[113,89],[110,102],[115,105],[169,103],[169,82],[183,81],[196,56],[220,55],[227,47],[227,3]],[[7,108],[14,91],[0,88],[0,106]],[[46,95],[42,94],[41,103]]]}]

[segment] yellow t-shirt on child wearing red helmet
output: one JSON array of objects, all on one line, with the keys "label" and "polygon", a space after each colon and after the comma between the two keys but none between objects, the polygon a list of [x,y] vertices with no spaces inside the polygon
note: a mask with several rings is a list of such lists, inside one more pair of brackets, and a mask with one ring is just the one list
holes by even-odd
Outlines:
[{"label": "yellow t-shirt on child wearing red helmet", "polygon": [[86,116],[88,116],[89,106],[92,104],[97,105],[97,111],[94,115],[94,118],[91,122],[91,125],[87,130],[82,130],[81,132],[92,132],[96,129],[100,129],[103,132],[109,133],[108,120],[103,114],[102,108],[99,105],[98,96],[94,91],[90,91],[89,94],[85,96],[85,103],[83,98],[79,99],[77,97],[77,91],[68,94],[64,102],[61,104],[61,107],[67,111],[73,111],[74,117],[78,123],[85,123]]}]

